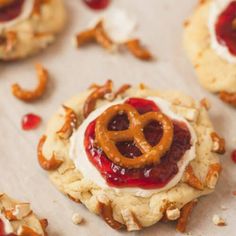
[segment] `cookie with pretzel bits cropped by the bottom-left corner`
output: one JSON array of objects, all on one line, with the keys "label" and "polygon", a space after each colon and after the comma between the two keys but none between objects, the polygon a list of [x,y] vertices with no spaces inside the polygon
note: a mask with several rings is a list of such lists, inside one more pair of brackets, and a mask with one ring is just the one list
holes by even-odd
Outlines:
[{"label": "cookie with pretzel bits cropped by the bottom-left corner", "polygon": [[22,203],[0,193],[0,235],[46,236],[46,219],[39,219],[29,203]]}]

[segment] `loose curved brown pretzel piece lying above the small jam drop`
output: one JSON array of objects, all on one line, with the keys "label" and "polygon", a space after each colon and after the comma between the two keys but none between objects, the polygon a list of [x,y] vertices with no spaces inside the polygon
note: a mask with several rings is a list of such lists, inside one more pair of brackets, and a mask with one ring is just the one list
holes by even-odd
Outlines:
[{"label": "loose curved brown pretzel piece lying above the small jam drop", "polygon": [[12,86],[13,95],[24,102],[31,102],[40,98],[46,90],[48,82],[48,72],[40,64],[36,64],[35,68],[38,74],[39,81],[39,84],[36,89],[34,89],[33,91],[28,91],[22,89],[21,86],[18,84],[14,84]]}]

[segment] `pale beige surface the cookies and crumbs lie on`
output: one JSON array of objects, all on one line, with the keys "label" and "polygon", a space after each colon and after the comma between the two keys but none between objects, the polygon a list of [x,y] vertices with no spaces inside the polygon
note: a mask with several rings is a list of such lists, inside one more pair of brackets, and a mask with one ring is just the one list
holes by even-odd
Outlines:
[{"label": "pale beige surface the cookies and crumbs lie on", "polygon": [[[202,198],[194,210],[189,231],[194,236],[233,236],[236,223],[236,165],[229,153],[236,148],[236,110],[224,105],[216,97],[204,91],[181,45],[182,22],[196,4],[192,0],[113,0],[113,5],[126,9],[136,16],[142,40],[158,57],[152,63],[140,62],[128,54],[110,55],[97,46],[76,50],[71,41],[74,33],[83,29],[94,13],[81,0],[67,0],[70,12],[67,29],[58,41],[44,53],[22,62],[0,64],[0,191],[14,198],[32,202],[33,208],[49,220],[49,235],[126,235],[110,229],[97,216],[83,206],[76,205],[48,181],[46,173],[36,161],[36,145],[43,133],[46,121],[60,104],[88,87],[111,78],[117,85],[126,83],[146,84],[161,89],[182,90],[196,99],[208,97],[213,108],[211,118],[218,132],[227,140],[228,152],[222,157],[224,171],[216,192]],[[52,76],[50,89],[44,99],[34,104],[23,104],[10,91],[14,82],[25,87],[36,83],[33,63],[45,65]],[[21,130],[21,117],[35,112],[43,117],[43,124],[36,131]],[[228,209],[222,211],[221,206]],[[71,216],[80,212],[86,224],[73,225]],[[228,226],[213,225],[213,214],[226,218]],[[174,224],[158,224],[140,233],[127,235],[178,235]]]}]

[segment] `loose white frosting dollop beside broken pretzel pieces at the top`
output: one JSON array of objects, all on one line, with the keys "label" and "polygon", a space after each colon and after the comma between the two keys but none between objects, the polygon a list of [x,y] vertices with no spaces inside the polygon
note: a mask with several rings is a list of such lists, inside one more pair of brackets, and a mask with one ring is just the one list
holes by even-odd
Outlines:
[{"label": "loose white frosting dollop beside broken pretzel pieces at the top", "polygon": [[104,29],[115,43],[123,43],[129,40],[136,28],[136,20],[119,8],[110,8],[96,17],[91,26],[102,20]]}]

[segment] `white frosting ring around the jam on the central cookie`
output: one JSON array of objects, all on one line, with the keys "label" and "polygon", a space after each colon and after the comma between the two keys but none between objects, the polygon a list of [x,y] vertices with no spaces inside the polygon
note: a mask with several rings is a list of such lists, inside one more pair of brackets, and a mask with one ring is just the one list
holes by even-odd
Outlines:
[{"label": "white frosting ring around the jam on the central cookie", "polygon": [[87,119],[83,121],[81,126],[71,137],[70,158],[74,161],[76,168],[83,174],[85,178],[90,179],[101,188],[113,189],[114,191],[120,192],[120,193],[121,192],[132,193],[135,196],[140,196],[140,197],[148,197],[154,193],[158,193],[158,192],[170,189],[174,187],[180,181],[180,179],[183,176],[186,166],[189,164],[190,161],[192,161],[195,158],[195,155],[196,155],[195,145],[196,145],[197,138],[196,138],[195,131],[193,130],[192,126],[183,117],[181,117],[180,115],[177,115],[171,110],[170,104],[168,102],[157,97],[147,97],[147,99],[154,101],[158,105],[158,107],[161,109],[161,111],[165,113],[166,115],[168,115],[170,118],[184,122],[191,133],[192,146],[189,150],[185,152],[182,159],[178,162],[178,167],[179,167],[178,173],[166,186],[160,189],[147,190],[147,189],[142,189],[139,187],[115,188],[115,187],[110,187],[106,183],[106,180],[102,177],[100,172],[96,169],[96,167],[90,162],[89,158],[87,157],[87,154],[84,148],[84,135],[85,135],[85,131],[88,125],[93,120],[95,120],[100,114],[102,114],[108,107],[115,104],[123,103],[124,100],[122,100],[122,101],[109,103],[93,111],[87,117]]}]

